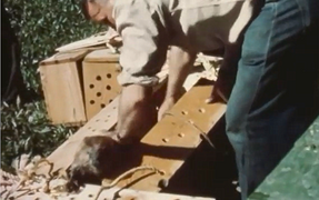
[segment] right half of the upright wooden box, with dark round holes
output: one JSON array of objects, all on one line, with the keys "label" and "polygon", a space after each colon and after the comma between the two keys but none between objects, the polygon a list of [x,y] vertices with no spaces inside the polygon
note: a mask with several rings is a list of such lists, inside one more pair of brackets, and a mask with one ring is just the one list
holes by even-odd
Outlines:
[{"label": "right half of the upright wooden box, with dark round holes", "polygon": [[119,54],[109,49],[96,50],[87,54],[82,66],[86,111],[90,120],[121,92],[117,81]]}]

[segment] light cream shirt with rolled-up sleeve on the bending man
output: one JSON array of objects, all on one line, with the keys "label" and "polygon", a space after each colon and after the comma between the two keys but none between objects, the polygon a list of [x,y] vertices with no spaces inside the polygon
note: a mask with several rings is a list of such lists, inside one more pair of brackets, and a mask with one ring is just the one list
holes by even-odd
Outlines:
[{"label": "light cream shirt with rolled-up sleeve on the bending man", "polygon": [[202,52],[236,43],[251,19],[251,1],[114,0],[113,18],[123,42],[119,83],[157,83],[168,46]]}]

